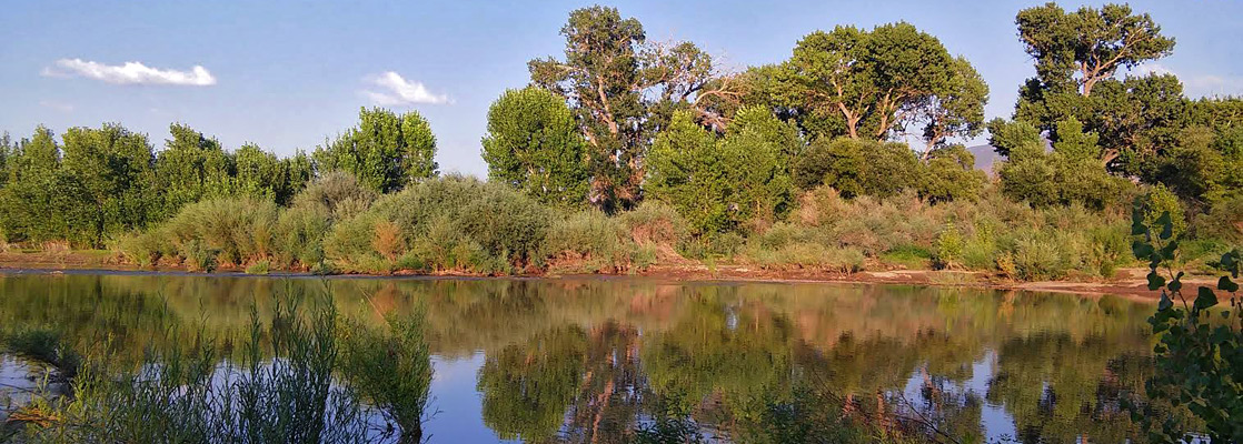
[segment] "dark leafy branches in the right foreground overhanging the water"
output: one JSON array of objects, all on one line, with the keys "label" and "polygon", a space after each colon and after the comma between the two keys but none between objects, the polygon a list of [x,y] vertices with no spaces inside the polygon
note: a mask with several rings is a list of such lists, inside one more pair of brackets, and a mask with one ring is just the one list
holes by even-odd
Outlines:
[{"label": "dark leafy branches in the right foreground overhanging the water", "polygon": [[[1243,442],[1243,300],[1234,282],[1243,253],[1236,248],[1223,254],[1217,268],[1227,274],[1218,279],[1216,289],[1198,286],[1188,303],[1185,274],[1173,270],[1182,237],[1173,232],[1170,212],[1149,226],[1136,205],[1131,234],[1139,238],[1132,252],[1149,262],[1149,289],[1161,290],[1157,313],[1149,319],[1154,335],[1160,337],[1154,347],[1156,372],[1146,386],[1149,399],[1186,406],[1203,420],[1212,442]],[[1217,308],[1219,295],[1229,296],[1229,308]],[[1151,439],[1190,442],[1188,430],[1175,415],[1157,415],[1150,404],[1139,418]]]}]

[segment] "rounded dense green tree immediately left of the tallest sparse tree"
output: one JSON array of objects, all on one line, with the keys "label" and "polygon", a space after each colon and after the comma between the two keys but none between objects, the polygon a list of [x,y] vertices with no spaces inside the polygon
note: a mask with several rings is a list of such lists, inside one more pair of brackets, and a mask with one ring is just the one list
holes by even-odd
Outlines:
[{"label": "rounded dense green tree immediately left of the tallest sparse tree", "polygon": [[510,89],[487,112],[484,161],[490,180],[544,203],[587,200],[584,140],[564,99],[544,89]]}]

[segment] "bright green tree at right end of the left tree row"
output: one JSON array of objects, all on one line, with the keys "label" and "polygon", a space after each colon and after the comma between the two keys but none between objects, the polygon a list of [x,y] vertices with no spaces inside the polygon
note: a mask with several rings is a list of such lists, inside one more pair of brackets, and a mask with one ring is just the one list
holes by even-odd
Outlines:
[{"label": "bright green tree at right end of the left tree row", "polygon": [[434,177],[436,138],[418,112],[395,114],[373,108],[358,112],[359,124],[314,150],[319,171],[351,172],[375,191],[401,190]]}]

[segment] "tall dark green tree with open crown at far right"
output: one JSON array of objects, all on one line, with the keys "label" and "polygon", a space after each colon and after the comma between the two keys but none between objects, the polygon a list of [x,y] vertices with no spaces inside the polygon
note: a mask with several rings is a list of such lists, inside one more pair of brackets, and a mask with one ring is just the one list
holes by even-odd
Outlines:
[{"label": "tall dark green tree with open crown at far right", "polygon": [[1014,118],[1058,139],[1057,125],[1083,123],[1100,136],[1099,162],[1124,176],[1142,175],[1185,127],[1182,86],[1170,74],[1116,78],[1122,69],[1168,56],[1175,40],[1147,14],[1126,5],[1065,11],[1055,4],[1016,17],[1035,77],[1019,89]]}]

